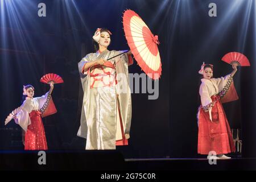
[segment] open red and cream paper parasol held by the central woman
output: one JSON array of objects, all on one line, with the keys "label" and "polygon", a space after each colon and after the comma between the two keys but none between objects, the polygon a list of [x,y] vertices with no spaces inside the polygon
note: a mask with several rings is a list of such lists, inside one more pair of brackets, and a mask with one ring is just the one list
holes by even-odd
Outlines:
[{"label": "open red and cream paper parasol held by the central woman", "polygon": [[158,36],[153,35],[141,17],[132,10],[123,13],[123,30],[135,60],[147,76],[161,76],[162,64],[158,51]]}]

